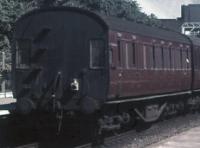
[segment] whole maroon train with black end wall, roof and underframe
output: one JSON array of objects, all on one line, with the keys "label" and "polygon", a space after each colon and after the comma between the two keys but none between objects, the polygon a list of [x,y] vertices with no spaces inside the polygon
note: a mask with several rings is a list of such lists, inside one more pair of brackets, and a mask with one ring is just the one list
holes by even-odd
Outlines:
[{"label": "whole maroon train with black end wall, roof and underframe", "polygon": [[100,111],[109,130],[200,105],[200,42],[178,32],[62,7],[22,16],[14,41],[13,92],[23,114]]}]

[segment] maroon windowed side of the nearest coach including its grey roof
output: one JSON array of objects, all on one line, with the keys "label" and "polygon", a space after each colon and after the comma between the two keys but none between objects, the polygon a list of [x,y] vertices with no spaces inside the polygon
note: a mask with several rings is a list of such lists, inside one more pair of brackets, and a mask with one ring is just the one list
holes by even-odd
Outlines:
[{"label": "maroon windowed side of the nearest coach including its grey roof", "polygon": [[191,89],[191,47],[176,32],[107,18],[110,97],[140,97]]}]

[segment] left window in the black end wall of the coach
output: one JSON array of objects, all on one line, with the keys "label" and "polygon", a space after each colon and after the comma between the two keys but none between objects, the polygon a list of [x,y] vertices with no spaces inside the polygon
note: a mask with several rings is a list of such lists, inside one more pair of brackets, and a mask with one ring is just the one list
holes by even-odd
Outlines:
[{"label": "left window in the black end wall of the coach", "polygon": [[19,40],[16,43],[16,68],[28,68],[30,65],[31,41]]}]

